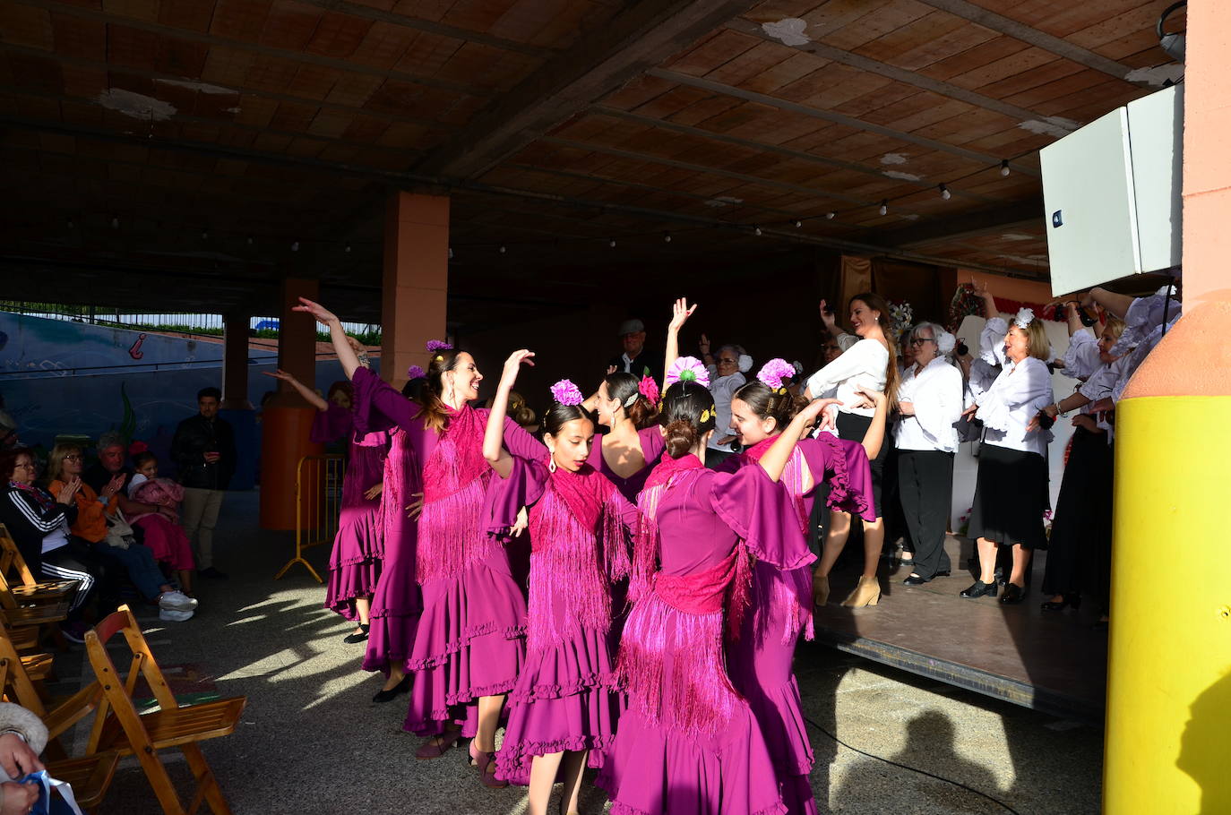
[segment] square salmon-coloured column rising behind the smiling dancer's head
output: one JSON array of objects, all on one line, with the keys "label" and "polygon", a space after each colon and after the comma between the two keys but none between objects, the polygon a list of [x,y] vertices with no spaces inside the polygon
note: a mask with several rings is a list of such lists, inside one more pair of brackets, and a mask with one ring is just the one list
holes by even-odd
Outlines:
[{"label": "square salmon-coloured column rising behind the smiling dancer's head", "polygon": [[427,368],[428,340],[443,340],[449,284],[449,199],[394,192],[385,207],[380,375],[400,388]]}]

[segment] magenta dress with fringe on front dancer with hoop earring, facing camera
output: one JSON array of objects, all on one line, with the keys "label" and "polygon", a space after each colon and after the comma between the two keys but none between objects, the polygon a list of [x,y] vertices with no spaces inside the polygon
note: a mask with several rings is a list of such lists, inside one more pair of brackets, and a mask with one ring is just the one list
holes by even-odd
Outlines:
[{"label": "magenta dress with fringe on front dancer with hoop earring, facing camera", "polygon": [[586,750],[597,768],[614,739],[622,701],[608,639],[611,586],[628,575],[625,531],[640,515],[590,465],[549,473],[540,460],[515,458],[499,481],[495,529],[531,507],[526,662],[496,753],[496,776],[526,785],[534,756]]}]

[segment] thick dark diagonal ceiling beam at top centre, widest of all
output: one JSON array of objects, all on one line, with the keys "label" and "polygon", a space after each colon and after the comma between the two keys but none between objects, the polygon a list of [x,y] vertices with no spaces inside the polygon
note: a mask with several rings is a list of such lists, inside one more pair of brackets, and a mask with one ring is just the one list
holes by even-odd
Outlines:
[{"label": "thick dark diagonal ceiling beam at top centre, widest of all", "polygon": [[474,179],[577,111],[688,47],[755,0],[641,0],[582,36],[414,169]]}]

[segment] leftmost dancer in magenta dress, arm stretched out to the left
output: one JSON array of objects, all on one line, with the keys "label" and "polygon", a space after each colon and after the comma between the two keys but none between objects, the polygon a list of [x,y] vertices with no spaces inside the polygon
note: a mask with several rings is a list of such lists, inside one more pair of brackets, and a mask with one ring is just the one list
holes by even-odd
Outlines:
[{"label": "leftmost dancer in magenta dress, arm stretched out to the left", "polygon": [[266,375],[286,382],[316,409],[311,422],[311,441],[331,443],[345,438],[350,442],[346,474],[342,476],[337,536],[329,555],[325,608],[355,620],[357,628],[346,635],[345,641],[362,643],[368,639],[372,595],[380,579],[380,564],[384,559],[379,513],[389,433],[361,433],[355,428],[351,410],[355,391],[348,382],[335,382],[325,400],[286,371],[278,369]]}]

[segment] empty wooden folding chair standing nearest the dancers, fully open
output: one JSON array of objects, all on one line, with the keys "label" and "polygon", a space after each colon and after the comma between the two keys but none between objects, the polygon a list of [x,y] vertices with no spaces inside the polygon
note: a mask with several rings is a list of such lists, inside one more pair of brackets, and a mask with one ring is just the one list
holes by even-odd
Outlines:
[{"label": "empty wooden folding chair standing nearest the dancers, fully open", "polygon": [[[123,633],[133,654],[128,677],[123,682],[106,648],[118,633]],[[202,803],[208,803],[214,815],[230,815],[218,779],[197,742],[234,733],[247,698],[231,697],[178,707],[128,606],[121,606],[119,611],[87,632],[85,645],[90,665],[103,689],[87,752],[114,750],[121,755],[135,755],[166,815],[191,815]],[[153,713],[139,714],[133,704],[133,691],[140,677],[145,678],[158,699],[159,709]],[[167,747],[178,747],[183,752],[197,779],[197,790],[187,808],[180,801],[158,753]]]}]

